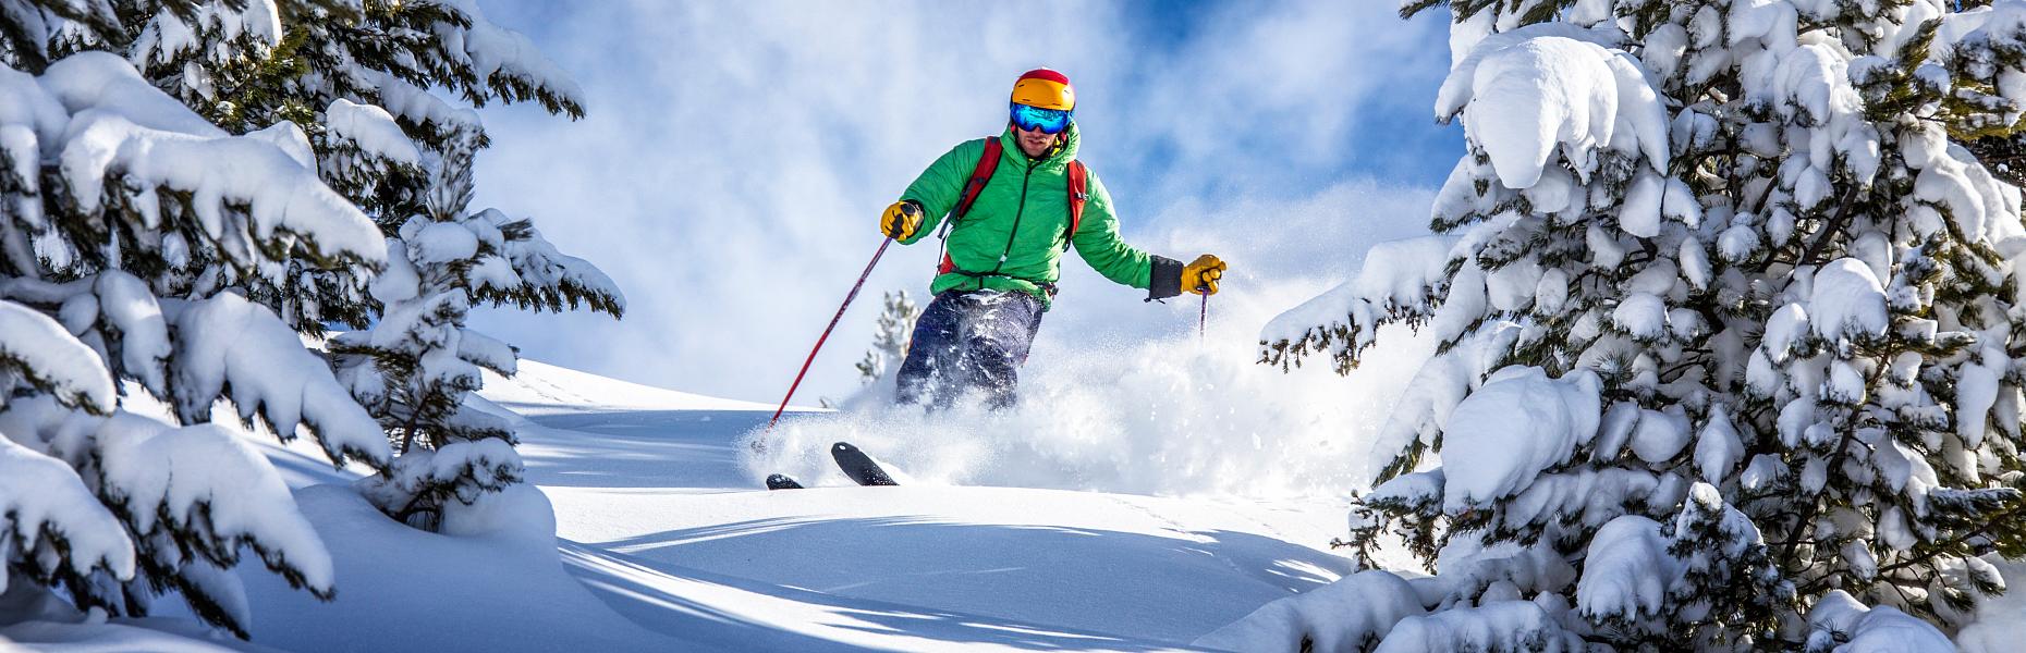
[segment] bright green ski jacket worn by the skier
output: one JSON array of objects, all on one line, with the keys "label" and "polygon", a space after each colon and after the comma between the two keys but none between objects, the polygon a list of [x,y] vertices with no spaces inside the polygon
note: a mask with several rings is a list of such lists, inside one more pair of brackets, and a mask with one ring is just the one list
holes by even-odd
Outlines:
[{"label": "bright green ski jacket worn by the skier", "polygon": [[[930,293],[1023,291],[1039,297],[1043,307],[1049,303],[1056,279],[1062,279],[1064,237],[1070,230],[1070,162],[1082,139],[1074,123],[1064,133],[1064,144],[1041,160],[1029,160],[1019,150],[1011,127],[999,133],[1005,150],[999,168],[970,212],[948,232],[946,247],[956,271],[936,275]],[[926,218],[902,245],[928,239],[942,224],[962,200],[964,184],[983,154],[985,139],[962,142],[908,184],[902,200],[920,204]],[[1084,263],[1106,279],[1147,289],[1149,299],[1179,295],[1181,263],[1120,241],[1112,194],[1096,174],[1086,184],[1084,224],[1070,239]]]}]

